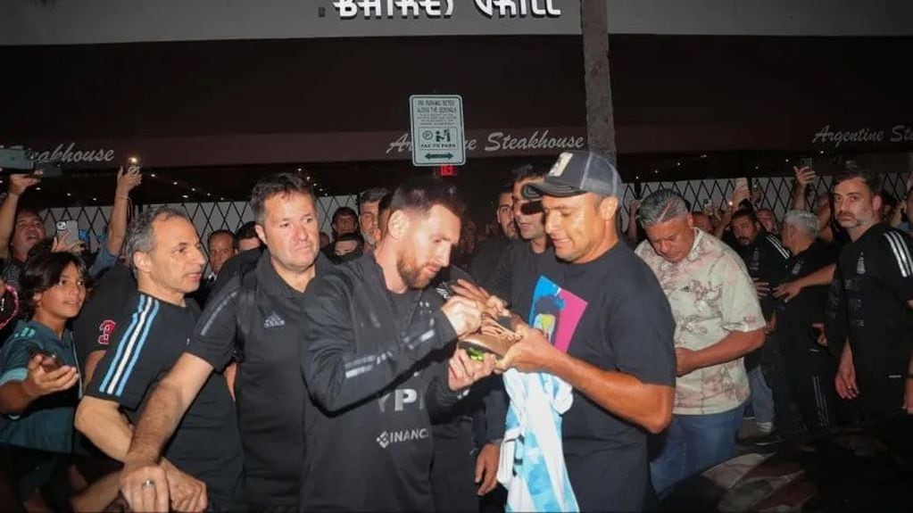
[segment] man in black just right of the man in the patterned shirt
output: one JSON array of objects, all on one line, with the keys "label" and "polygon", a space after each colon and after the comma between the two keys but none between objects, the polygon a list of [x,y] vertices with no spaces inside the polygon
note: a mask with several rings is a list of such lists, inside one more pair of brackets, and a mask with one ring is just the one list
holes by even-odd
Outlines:
[{"label": "man in black just right of the man in the patterned shirt", "polygon": [[[761,226],[750,210],[743,209],[733,214],[731,226],[732,235],[738,243],[736,251],[754,280],[764,319],[770,322],[776,307],[776,299],[771,290],[780,285],[786,273],[786,259],[790,254],[776,236]],[[782,372],[779,351],[776,351],[774,344],[773,340],[767,340],[760,350],[745,358],[745,368],[749,372],[751,384],[754,422],[764,434],[773,430],[775,417],[782,421],[780,424],[789,422],[783,416],[790,403],[788,385]],[[785,428],[786,425],[779,427]]]}]

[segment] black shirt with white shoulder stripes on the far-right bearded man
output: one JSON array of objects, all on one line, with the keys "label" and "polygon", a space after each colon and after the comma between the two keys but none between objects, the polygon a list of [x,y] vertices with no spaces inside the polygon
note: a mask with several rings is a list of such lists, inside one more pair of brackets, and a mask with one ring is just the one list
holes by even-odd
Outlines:
[{"label": "black shirt with white shoulder stripes on the far-right bearded man", "polygon": [[896,228],[872,226],[845,246],[838,269],[866,415],[900,414],[913,350],[913,242]]}]

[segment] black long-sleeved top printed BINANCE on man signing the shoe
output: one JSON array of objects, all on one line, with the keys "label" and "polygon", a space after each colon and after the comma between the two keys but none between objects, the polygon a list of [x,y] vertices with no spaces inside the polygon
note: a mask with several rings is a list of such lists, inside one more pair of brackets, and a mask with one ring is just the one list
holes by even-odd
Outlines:
[{"label": "black long-sleeved top printed BINANCE on man signing the shoe", "polygon": [[[431,359],[456,339],[443,298],[432,288],[414,307],[393,298],[365,255],[319,276],[304,302],[300,358],[311,400],[299,507],[432,510],[429,415],[462,395]],[[411,318],[400,313],[409,309]]]}]

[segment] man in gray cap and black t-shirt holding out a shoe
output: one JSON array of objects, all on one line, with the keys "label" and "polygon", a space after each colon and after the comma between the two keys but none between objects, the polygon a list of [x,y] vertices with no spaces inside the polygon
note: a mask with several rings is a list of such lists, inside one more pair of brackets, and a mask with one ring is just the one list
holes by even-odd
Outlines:
[{"label": "man in gray cap and black t-shirt holding out a shoe", "polygon": [[593,152],[561,153],[542,182],[524,187],[525,197],[541,198],[555,254],[570,264],[558,297],[576,306],[551,314],[561,326],[551,340],[521,325],[523,340],[498,363],[572,385],[563,450],[584,511],[645,508],[646,432],[672,417],[675,322],[653,271],[618,238],[622,192],[614,165]]}]

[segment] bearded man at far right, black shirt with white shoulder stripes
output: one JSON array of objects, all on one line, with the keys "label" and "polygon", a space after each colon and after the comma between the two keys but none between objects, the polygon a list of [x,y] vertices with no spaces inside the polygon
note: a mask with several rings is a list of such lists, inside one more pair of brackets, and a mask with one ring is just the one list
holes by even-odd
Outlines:
[{"label": "bearded man at far right, black shirt with white shoulder stripes", "polygon": [[845,344],[835,386],[868,421],[913,414],[913,243],[881,223],[881,180],[853,169],[834,178],[834,211],[852,242],[837,264]]}]

